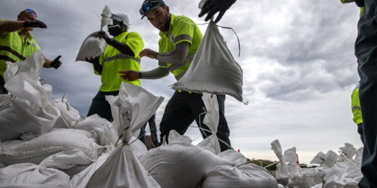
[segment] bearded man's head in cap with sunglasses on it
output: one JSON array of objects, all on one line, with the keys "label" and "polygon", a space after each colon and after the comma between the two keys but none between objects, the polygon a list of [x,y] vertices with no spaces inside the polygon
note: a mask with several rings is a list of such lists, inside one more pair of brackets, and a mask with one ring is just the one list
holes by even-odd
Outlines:
[{"label": "bearded man's head in cap with sunglasses on it", "polygon": [[170,24],[170,11],[169,7],[165,5],[162,0],[145,0],[139,10],[144,17],[157,29],[166,32]]}]

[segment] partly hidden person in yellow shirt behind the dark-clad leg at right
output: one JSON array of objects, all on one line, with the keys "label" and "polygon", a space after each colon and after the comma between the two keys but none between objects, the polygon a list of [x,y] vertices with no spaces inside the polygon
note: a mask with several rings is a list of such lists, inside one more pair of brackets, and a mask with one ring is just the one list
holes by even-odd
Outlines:
[{"label": "partly hidden person in yellow shirt behind the dark-clad leg at right", "polygon": [[357,132],[360,134],[361,142],[364,143],[364,134],[362,130],[362,115],[361,115],[361,107],[360,107],[360,99],[359,99],[359,84],[357,84],[356,88],[353,90],[351,95],[351,107],[352,107],[352,114],[353,114],[353,122],[357,125]]}]

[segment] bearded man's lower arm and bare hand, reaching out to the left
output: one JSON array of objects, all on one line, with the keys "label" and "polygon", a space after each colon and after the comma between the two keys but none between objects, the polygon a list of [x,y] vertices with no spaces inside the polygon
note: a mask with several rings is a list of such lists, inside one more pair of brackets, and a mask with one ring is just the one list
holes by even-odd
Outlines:
[{"label": "bearded man's lower arm and bare hand, reaching out to the left", "polygon": [[145,72],[128,70],[128,71],[119,71],[119,73],[123,74],[123,75],[120,75],[121,78],[127,81],[135,81],[138,79],[154,80],[154,79],[159,79],[159,78],[163,78],[167,76],[169,74],[169,69],[157,67],[153,70],[145,71]]}]

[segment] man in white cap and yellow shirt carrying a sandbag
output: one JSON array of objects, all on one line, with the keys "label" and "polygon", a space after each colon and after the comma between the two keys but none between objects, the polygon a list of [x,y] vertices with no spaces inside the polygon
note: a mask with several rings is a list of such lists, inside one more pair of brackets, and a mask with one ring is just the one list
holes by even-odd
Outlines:
[{"label": "man in white cap and yellow shirt carrying a sandbag", "polygon": [[[127,15],[112,14],[111,19],[114,24],[108,25],[108,31],[114,37],[110,38],[105,32],[99,33],[99,37],[105,39],[107,43],[104,54],[97,58],[86,58],[86,61],[93,65],[95,74],[101,76],[102,82],[99,92],[92,100],[87,116],[98,114],[108,121],[113,121],[113,116],[105,96],[117,96],[122,82],[140,86],[140,80],[123,80],[118,71],[140,71],[139,53],[144,48],[140,35],[136,32],[128,32],[130,23]],[[144,134],[143,128],[141,134]],[[144,142],[144,139],[141,140]]]}]

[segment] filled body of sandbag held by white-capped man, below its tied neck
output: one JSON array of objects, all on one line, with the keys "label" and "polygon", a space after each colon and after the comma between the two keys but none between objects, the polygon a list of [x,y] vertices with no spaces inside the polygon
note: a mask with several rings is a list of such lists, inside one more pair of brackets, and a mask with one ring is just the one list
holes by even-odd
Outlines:
[{"label": "filled body of sandbag held by white-capped man, below its tied neck", "polygon": [[94,32],[86,37],[78,51],[76,61],[86,61],[85,58],[96,58],[105,52],[106,41],[98,38],[98,32]]}]

